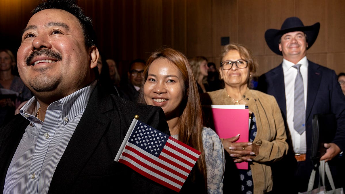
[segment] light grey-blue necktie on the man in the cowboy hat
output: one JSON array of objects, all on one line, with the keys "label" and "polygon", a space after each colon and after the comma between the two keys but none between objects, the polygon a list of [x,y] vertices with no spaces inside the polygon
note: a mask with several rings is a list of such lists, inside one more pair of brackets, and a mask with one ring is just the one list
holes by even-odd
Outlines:
[{"label": "light grey-blue necktie on the man in the cowboy hat", "polygon": [[295,79],[294,128],[299,134],[302,134],[305,131],[305,108],[303,79],[299,71],[301,64],[294,65],[293,67],[297,69]]}]

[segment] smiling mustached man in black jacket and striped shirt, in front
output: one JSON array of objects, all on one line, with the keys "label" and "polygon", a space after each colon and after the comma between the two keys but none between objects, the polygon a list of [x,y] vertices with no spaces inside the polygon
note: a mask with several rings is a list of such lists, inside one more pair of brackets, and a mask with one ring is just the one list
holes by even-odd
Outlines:
[{"label": "smiling mustached man in black jacket and striped shirt, in front", "polygon": [[135,115],[169,129],[161,108],[97,84],[94,34],[74,0],[48,0],[33,11],[17,61],[34,97],[0,129],[0,193],[171,192],[114,161]]}]

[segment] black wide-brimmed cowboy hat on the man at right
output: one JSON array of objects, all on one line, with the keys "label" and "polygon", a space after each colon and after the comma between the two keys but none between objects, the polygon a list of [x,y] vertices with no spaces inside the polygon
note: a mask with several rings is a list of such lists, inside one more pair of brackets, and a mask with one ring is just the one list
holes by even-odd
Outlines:
[{"label": "black wide-brimmed cowboy hat on the man at right", "polygon": [[265,40],[268,47],[278,55],[283,55],[278,48],[279,39],[288,32],[302,31],[307,35],[309,49],[315,42],[320,30],[320,23],[316,22],[312,26],[304,26],[302,21],[297,17],[287,18],[280,30],[268,29],[265,32]]}]

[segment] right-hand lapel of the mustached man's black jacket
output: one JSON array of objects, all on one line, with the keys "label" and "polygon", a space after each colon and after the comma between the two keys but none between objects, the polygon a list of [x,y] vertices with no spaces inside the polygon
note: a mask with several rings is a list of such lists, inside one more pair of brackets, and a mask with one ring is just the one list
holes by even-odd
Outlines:
[{"label": "right-hand lapel of the mustached man's black jacket", "polygon": [[[59,188],[73,183],[96,149],[99,141],[109,128],[111,119],[105,113],[117,111],[114,109],[111,97],[104,95],[96,86],[88,105],[73,133],[65,152],[63,153],[50,188]],[[112,114],[114,120],[119,120],[118,114]],[[76,165],[71,165],[76,164]]]}]

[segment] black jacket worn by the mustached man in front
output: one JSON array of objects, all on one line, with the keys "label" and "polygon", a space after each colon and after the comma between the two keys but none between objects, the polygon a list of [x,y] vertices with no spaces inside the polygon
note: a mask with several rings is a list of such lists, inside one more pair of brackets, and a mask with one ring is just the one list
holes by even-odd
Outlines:
[{"label": "black jacket worn by the mustached man in front", "polygon": [[[135,104],[96,86],[56,167],[48,193],[174,193],[114,161],[135,115],[170,134],[160,107]],[[0,193],[28,124],[18,114],[0,129]]]}]

